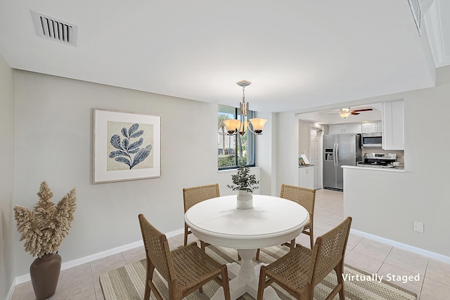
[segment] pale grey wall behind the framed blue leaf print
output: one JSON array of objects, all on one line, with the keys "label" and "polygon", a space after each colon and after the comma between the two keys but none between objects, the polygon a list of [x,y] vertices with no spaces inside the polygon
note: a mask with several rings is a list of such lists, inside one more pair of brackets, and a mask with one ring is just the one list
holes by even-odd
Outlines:
[{"label": "pale grey wall behind the framed blue leaf print", "polygon": [[[32,209],[41,181],[55,202],[77,188],[63,263],[141,240],[140,213],[162,232],[181,230],[184,187],[217,182],[221,195],[236,193],[226,188],[231,172],[217,171],[217,105],[19,70],[15,86],[17,204]],[[94,107],[162,116],[160,178],[91,183]],[[258,142],[263,147],[270,133]],[[33,259],[18,234],[15,249],[17,275],[27,274]]]}]

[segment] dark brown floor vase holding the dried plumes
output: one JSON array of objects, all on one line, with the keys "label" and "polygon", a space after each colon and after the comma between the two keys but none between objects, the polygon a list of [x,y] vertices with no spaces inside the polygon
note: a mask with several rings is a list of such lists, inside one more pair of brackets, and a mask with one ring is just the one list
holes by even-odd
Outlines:
[{"label": "dark brown floor vase holding the dried plumes", "polygon": [[61,256],[57,253],[34,259],[30,266],[30,276],[37,300],[47,299],[55,294],[60,269]]}]

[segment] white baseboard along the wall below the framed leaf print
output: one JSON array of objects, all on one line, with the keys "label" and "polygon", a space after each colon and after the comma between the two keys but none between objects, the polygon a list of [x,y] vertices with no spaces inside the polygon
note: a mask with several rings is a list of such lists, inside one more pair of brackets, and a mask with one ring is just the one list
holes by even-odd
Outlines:
[{"label": "white baseboard along the wall below the framed leaf print", "polygon": [[[166,233],[165,235],[167,237],[174,237],[175,235],[180,235],[181,233],[184,233],[184,229],[183,228],[171,231],[169,233]],[[120,252],[124,252],[124,251],[130,250],[130,249],[134,249],[134,248],[137,248],[137,247],[141,247],[142,245],[143,245],[142,240],[139,240],[139,241],[136,241],[136,242],[131,242],[129,244],[124,244],[124,245],[119,246],[119,247],[115,247],[113,249],[108,249],[108,250],[105,250],[105,251],[102,251],[102,252],[98,252],[96,254],[92,254],[92,255],[89,255],[89,256],[84,256],[84,257],[82,257],[80,259],[74,259],[73,261],[67,261],[67,262],[61,264],[61,270],[65,270],[65,269],[68,269],[68,268],[73,268],[73,267],[76,267],[76,266],[80,266],[83,263],[90,263],[91,261],[96,261],[97,259],[103,259],[103,258],[105,258],[107,256],[111,256],[111,255],[114,255],[114,254],[117,254],[117,253],[120,253]],[[30,273],[16,277],[15,278],[15,282],[13,284],[13,291],[14,291],[14,288],[15,288],[16,285],[20,285],[20,283],[27,282],[27,281],[30,281],[30,280],[31,280]],[[12,296],[12,294],[11,294],[11,296]]]}]

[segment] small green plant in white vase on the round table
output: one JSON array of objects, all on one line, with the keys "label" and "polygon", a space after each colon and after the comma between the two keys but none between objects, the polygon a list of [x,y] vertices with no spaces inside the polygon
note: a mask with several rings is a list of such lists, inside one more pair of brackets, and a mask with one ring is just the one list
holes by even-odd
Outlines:
[{"label": "small green plant in white vase on the round table", "polygon": [[231,175],[234,185],[226,185],[231,190],[238,190],[238,209],[250,209],[253,207],[254,190],[259,188],[259,181],[254,174],[250,174],[250,168],[240,165],[236,174]]}]

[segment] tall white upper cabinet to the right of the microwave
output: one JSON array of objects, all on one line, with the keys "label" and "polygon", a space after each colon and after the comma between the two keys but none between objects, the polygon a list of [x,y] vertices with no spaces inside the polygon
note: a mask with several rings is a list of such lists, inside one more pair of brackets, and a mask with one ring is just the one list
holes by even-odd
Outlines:
[{"label": "tall white upper cabinet to the right of the microwave", "polygon": [[404,150],[403,100],[383,102],[383,150]]}]

